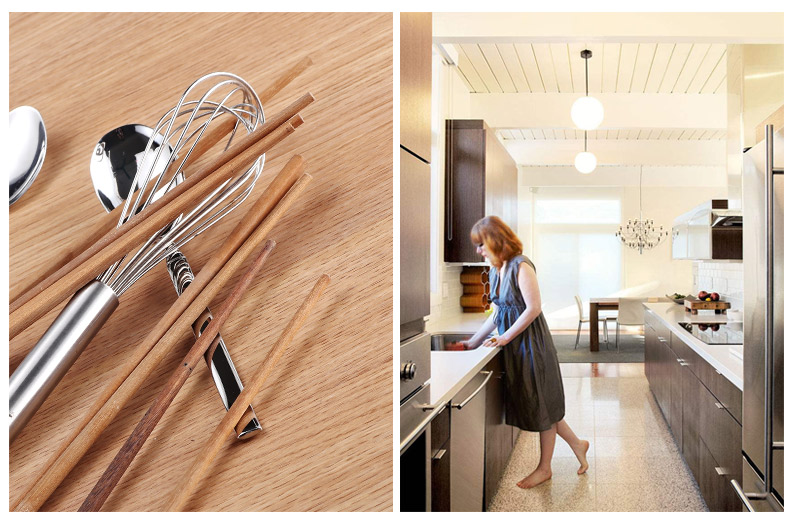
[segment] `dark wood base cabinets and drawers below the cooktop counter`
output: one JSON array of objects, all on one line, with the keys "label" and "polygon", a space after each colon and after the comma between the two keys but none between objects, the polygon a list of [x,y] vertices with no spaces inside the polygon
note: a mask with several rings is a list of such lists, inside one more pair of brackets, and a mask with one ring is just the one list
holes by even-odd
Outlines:
[{"label": "dark wood base cabinets and drawers below the cooktop counter", "polygon": [[649,312],[645,374],[708,508],[740,511],[741,391]]}]

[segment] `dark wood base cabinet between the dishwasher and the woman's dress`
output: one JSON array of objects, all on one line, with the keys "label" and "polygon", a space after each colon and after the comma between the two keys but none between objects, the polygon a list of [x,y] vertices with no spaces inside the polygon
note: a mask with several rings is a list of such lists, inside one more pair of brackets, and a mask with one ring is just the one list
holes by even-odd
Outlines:
[{"label": "dark wood base cabinet between the dishwasher and the woman's dress", "polygon": [[501,352],[486,365],[485,370],[494,373],[486,390],[486,466],[483,504],[487,510],[513,452],[513,427],[505,423],[504,369]]}]

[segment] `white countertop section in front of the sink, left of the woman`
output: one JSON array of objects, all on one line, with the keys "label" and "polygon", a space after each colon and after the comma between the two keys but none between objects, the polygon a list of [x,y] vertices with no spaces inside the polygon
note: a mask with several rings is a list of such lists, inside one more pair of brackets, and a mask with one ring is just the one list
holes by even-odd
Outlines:
[{"label": "white countertop section in front of the sink, left of the woman", "polygon": [[450,401],[499,349],[481,346],[471,351],[431,351],[431,403]]}]

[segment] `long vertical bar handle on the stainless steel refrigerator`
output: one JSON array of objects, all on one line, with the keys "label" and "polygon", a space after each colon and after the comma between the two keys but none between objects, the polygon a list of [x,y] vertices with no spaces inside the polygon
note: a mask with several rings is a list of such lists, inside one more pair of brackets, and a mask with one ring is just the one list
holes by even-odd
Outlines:
[{"label": "long vertical bar handle on the stainless steel refrigerator", "polygon": [[765,126],[765,493],[773,487],[774,426],[774,126]]}]

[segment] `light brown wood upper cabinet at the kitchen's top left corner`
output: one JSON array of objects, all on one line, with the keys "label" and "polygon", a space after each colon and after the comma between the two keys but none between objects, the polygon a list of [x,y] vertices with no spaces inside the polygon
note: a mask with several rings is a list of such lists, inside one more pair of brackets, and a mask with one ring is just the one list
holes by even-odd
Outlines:
[{"label": "light brown wood upper cabinet at the kitchen's top left corner", "polygon": [[400,15],[400,144],[431,162],[431,13]]}]

